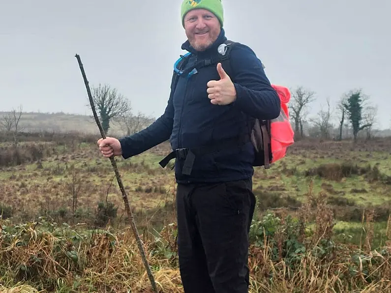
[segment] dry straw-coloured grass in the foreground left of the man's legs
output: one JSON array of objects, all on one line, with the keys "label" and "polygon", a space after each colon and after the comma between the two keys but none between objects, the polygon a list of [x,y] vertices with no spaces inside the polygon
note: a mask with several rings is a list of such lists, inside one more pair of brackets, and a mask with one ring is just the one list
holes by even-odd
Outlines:
[{"label": "dry straw-coloured grass in the foreground left of the man's legs", "polygon": [[[59,284],[72,288],[75,283],[79,286],[69,292],[149,292],[150,282],[130,229],[87,236],[66,227],[49,232],[51,225],[8,226],[12,233],[0,236],[0,262],[3,270],[8,267],[7,278],[41,284],[48,292]],[[153,246],[147,239],[146,249]],[[149,262],[159,268],[156,282],[162,292],[180,292],[179,272],[168,259],[149,255]]]}]

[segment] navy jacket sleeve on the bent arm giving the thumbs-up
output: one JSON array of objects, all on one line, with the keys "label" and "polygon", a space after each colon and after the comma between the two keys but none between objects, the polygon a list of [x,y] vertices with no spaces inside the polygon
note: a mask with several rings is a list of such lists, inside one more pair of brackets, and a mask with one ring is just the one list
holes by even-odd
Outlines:
[{"label": "navy jacket sleeve on the bent arm giving the thumbs-up", "polygon": [[281,101],[271,87],[262,62],[247,46],[238,44],[231,52],[231,68],[237,98],[233,106],[254,118],[271,120],[279,116]]}]

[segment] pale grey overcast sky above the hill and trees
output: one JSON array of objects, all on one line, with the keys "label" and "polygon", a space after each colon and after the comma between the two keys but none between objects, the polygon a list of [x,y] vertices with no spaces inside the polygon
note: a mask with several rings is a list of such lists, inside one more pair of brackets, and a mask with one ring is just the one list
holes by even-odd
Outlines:
[{"label": "pale grey overcast sky above the hill and trees", "polygon": [[[0,0],[0,111],[90,114],[90,85],[108,83],[134,111],[160,116],[186,40],[181,0]],[[227,37],[250,46],[271,83],[317,93],[312,114],[362,88],[390,126],[391,1],[223,0]]]}]

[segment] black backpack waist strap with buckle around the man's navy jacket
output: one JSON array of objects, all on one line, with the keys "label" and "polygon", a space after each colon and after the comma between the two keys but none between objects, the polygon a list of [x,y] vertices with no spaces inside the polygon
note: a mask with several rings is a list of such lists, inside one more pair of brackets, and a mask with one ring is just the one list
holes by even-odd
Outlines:
[{"label": "black backpack waist strap with buckle around the man's navy jacket", "polygon": [[159,165],[163,168],[167,166],[168,162],[176,158],[178,160],[184,160],[182,169],[183,175],[190,175],[193,168],[194,160],[196,156],[205,155],[212,152],[217,152],[227,148],[241,147],[245,143],[250,141],[249,135],[242,137],[235,137],[230,139],[221,140],[207,146],[201,146],[196,148],[177,148],[170,152],[165,158],[163,158]]}]

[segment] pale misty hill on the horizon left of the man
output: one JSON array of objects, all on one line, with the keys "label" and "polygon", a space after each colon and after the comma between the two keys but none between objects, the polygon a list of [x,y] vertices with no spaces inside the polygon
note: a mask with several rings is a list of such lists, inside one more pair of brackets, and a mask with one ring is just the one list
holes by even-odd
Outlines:
[{"label": "pale misty hill on the horizon left of the man", "polygon": [[[0,119],[9,112],[0,112]],[[93,116],[65,113],[23,113],[20,125],[26,132],[55,131],[97,133],[99,129]],[[124,129],[119,123],[111,122],[111,133],[122,134]]]}]

